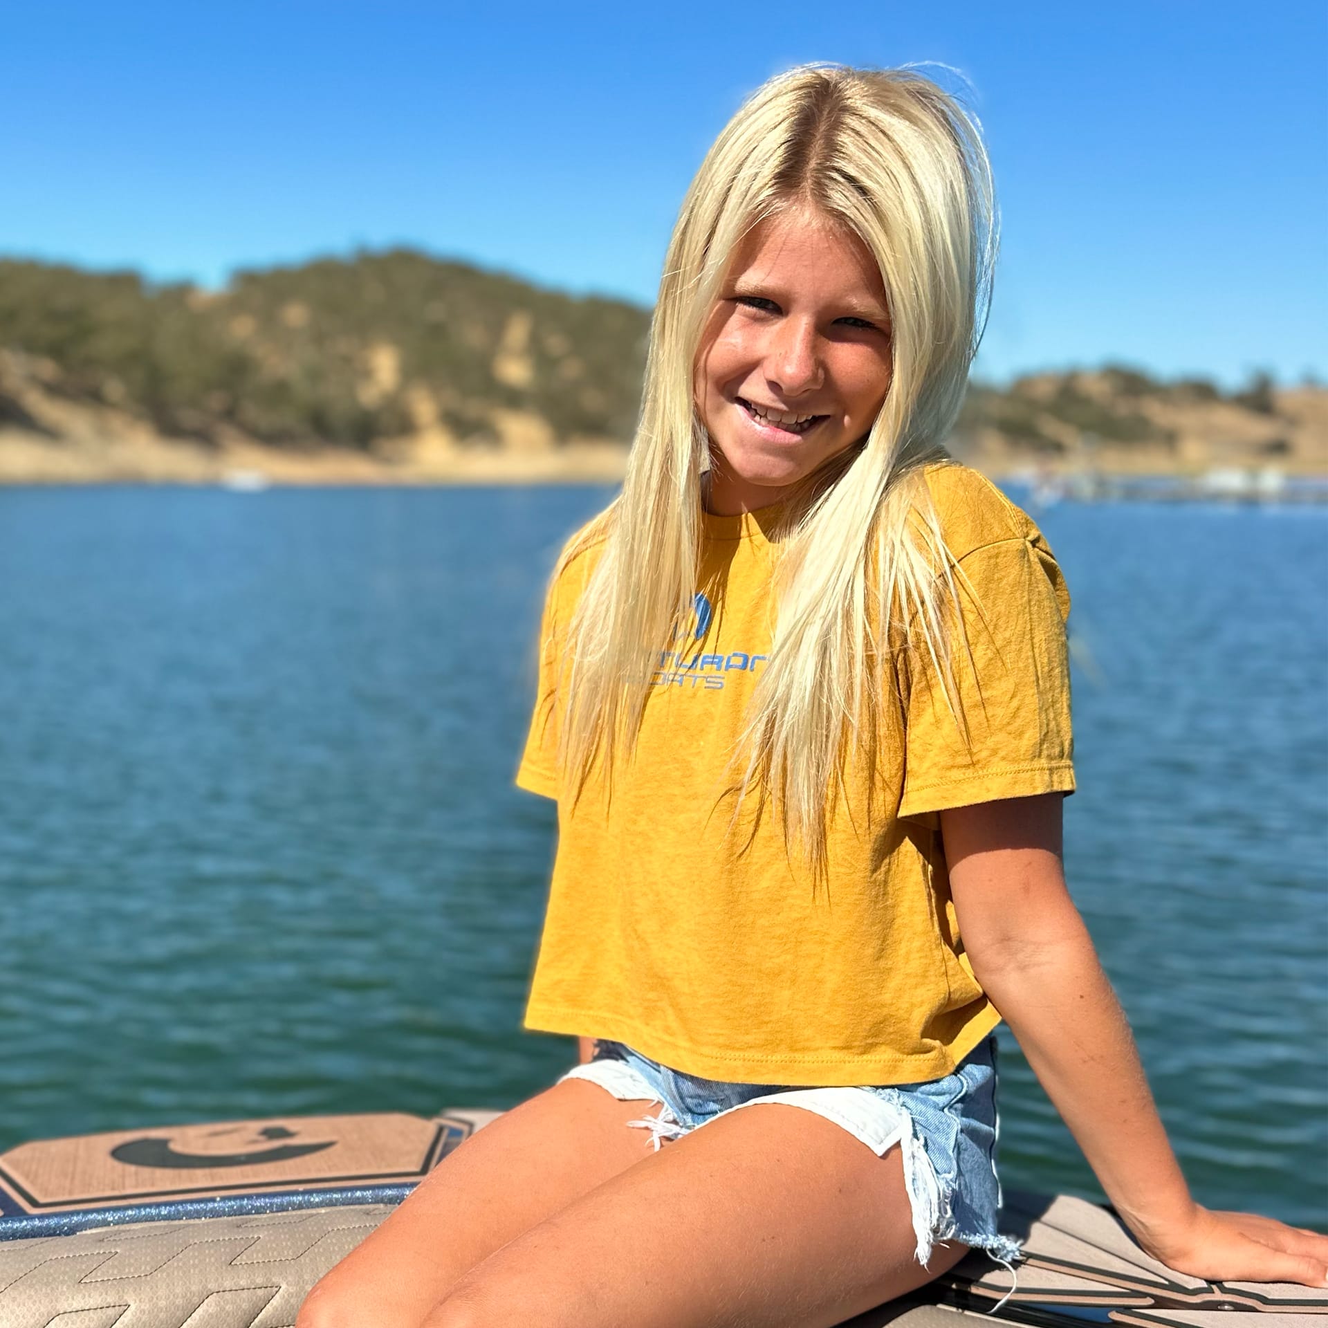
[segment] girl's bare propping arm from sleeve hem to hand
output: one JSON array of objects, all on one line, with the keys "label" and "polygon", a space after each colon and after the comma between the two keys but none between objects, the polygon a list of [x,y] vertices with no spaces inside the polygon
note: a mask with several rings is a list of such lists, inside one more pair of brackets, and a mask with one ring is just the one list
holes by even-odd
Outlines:
[{"label": "girl's bare propping arm from sleeve hem to hand", "polygon": [[1328,1236],[1190,1197],[1061,867],[1061,795],[942,813],[973,973],[1139,1244],[1201,1278],[1328,1279]]}]

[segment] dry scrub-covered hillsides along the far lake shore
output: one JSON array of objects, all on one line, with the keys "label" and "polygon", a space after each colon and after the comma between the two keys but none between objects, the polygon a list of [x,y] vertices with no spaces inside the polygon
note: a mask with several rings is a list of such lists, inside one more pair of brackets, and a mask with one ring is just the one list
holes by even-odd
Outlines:
[{"label": "dry scrub-covered hillsides along the far lake shore", "polygon": [[[649,313],[410,250],[151,286],[0,260],[0,482],[612,479]],[[1131,369],[975,384],[993,473],[1328,473],[1328,392]]]}]

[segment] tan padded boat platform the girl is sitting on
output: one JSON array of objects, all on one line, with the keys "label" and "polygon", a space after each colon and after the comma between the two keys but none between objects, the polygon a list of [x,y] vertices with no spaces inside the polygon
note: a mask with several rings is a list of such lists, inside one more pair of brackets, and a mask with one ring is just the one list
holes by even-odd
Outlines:
[{"label": "tan padded boat platform the girl is sitting on", "polygon": [[[0,1153],[0,1328],[290,1328],[313,1283],[498,1114],[272,1117],[20,1143]],[[1013,1291],[1009,1270],[973,1252],[850,1323],[1328,1328],[1328,1291],[1177,1274],[1084,1199],[1008,1194],[1003,1231],[1024,1242]]]}]

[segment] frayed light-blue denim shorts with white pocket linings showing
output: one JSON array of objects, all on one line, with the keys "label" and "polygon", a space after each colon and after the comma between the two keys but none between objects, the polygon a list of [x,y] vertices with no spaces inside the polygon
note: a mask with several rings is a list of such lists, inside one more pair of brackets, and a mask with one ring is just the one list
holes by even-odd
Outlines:
[{"label": "frayed light-blue denim shorts with white pocket linings showing", "polygon": [[726,1112],[757,1102],[785,1102],[815,1112],[884,1157],[903,1154],[904,1185],[926,1264],[936,1240],[959,1240],[1001,1263],[1019,1256],[1019,1242],[1000,1235],[996,1177],[996,1036],[989,1036],[952,1074],[926,1084],[865,1088],[790,1088],[729,1084],[683,1074],[641,1056],[624,1042],[598,1041],[595,1058],[562,1076],[598,1084],[620,1101],[659,1102],[655,1116],[628,1125],[661,1139],[680,1138]]}]

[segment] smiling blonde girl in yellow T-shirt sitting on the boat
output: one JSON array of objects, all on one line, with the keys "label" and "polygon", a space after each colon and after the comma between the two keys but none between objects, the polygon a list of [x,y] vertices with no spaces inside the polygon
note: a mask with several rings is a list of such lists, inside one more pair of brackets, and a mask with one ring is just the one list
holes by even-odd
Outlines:
[{"label": "smiling blonde girl in yellow T-shirt sitting on the boat", "polygon": [[1068,596],[942,449],[992,218],[975,125],[910,72],[795,69],[705,158],[518,774],[560,830],[526,1023],[582,1064],[299,1328],[810,1328],[1009,1260],[1001,1017],[1145,1250],[1324,1283],[1328,1239],[1190,1197],[1065,888]]}]

